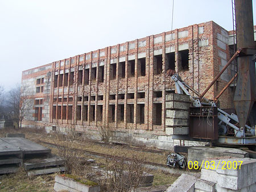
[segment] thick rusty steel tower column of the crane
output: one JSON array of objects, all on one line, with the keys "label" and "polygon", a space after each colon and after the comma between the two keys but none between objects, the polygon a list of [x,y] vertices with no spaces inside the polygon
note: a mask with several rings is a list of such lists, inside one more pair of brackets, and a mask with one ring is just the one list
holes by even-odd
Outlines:
[{"label": "thick rusty steel tower column of the crane", "polygon": [[255,112],[255,43],[253,26],[253,3],[251,0],[236,0],[237,47],[242,48],[237,59],[238,76],[234,105],[240,127],[245,127],[250,112]]}]

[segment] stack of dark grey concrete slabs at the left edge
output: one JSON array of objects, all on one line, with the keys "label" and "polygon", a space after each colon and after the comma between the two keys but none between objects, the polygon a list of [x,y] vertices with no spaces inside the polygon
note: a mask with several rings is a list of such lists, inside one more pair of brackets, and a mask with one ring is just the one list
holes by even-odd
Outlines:
[{"label": "stack of dark grey concrete slabs at the left edge", "polygon": [[64,160],[53,156],[51,149],[13,136],[0,138],[0,174],[15,173],[22,165],[28,176],[65,170]]}]

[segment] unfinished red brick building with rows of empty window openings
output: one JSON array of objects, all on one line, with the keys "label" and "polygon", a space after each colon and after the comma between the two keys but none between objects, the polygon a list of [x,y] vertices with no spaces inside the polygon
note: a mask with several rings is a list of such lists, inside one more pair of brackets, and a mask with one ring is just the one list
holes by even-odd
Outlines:
[{"label": "unfinished red brick building with rows of empty window openings", "polygon": [[[167,70],[176,70],[203,92],[233,54],[230,35],[212,21],[193,24],[25,70],[22,85],[33,92],[35,105],[23,126],[129,128],[145,140],[162,136],[171,142],[164,102],[175,84]],[[230,66],[205,97],[216,97],[232,70]],[[222,108],[233,107],[233,88],[220,100]]]}]

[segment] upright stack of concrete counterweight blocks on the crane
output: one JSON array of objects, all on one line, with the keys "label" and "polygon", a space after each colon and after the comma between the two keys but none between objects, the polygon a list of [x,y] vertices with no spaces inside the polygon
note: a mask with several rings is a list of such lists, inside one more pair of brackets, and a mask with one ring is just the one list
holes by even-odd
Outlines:
[{"label": "upright stack of concrete counterweight blocks on the crane", "polygon": [[166,134],[189,134],[189,106],[188,95],[168,93],[166,94]]}]

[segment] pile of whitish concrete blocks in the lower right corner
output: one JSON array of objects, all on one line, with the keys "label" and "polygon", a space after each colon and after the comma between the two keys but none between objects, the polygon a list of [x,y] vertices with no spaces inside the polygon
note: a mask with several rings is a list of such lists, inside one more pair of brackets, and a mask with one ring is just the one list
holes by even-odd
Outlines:
[{"label": "pile of whitish concrete blocks in the lower right corner", "polygon": [[[230,158],[212,161],[209,168],[215,166],[215,169],[202,166],[200,178],[182,174],[166,191],[256,191],[255,159]],[[220,166],[217,166],[219,162]]]}]

